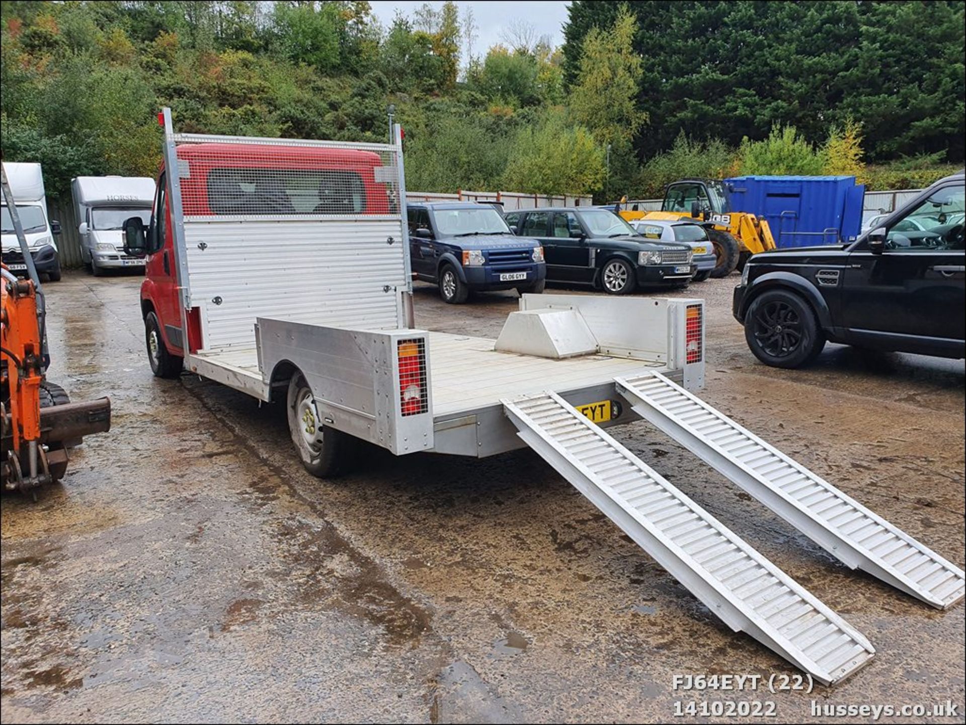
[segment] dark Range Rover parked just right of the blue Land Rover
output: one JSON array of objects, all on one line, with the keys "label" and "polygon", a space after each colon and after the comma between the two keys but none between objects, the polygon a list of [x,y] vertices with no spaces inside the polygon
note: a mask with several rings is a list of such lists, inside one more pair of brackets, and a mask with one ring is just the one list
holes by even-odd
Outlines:
[{"label": "dark Range Rover parked just right of the blue Land Rover", "polygon": [[687,287],[696,269],[690,245],[643,237],[610,209],[526,209],[503,218],[516,234],[540,242],[551,282],[627,294]]}]

